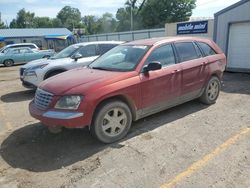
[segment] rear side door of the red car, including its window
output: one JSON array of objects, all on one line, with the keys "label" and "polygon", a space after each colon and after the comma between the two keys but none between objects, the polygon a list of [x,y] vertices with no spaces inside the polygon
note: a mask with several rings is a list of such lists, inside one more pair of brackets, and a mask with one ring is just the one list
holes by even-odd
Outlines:
[{"label": "rear side door of the red car, including its window", "polygon": [[177,42],[174,45],[182,70],[182,100],[198,97],[204,86],[208,60],[193,42]]}]

